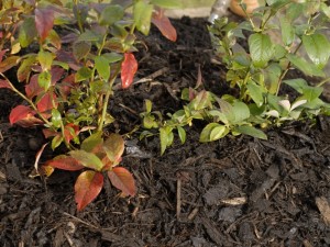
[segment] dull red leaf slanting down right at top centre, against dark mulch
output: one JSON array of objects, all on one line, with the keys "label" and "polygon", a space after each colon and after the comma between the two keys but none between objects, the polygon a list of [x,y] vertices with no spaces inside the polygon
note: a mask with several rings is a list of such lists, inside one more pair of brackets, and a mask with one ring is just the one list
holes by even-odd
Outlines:
[{"label": "dull red leaf slanting down right at top centre, against dark mulch", "polygon": [[172,25],[169,19],[164,14],[164,10],[158,9],[153,13],[152,23],[157,26],[161,33],[169,41],[175,42],[177,38],[177,33]]}]

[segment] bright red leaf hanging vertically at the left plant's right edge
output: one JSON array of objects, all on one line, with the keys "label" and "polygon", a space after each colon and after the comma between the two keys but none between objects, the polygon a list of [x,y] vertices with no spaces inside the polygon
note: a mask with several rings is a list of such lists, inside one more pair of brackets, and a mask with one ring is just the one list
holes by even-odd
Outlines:
[{"label": "bright red leaf hanging vertically at the left plant's right edge", "polygon": [[125,53],[124,60],[121,64],[121,86],[129,88],[133,82],[134,75],[138,70],[138,61],[133,54]]}]

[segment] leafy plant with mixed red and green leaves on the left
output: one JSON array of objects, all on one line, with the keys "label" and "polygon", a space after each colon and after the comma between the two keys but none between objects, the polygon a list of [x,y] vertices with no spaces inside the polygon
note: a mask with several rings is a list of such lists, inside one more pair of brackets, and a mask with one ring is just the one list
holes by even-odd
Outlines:
[{"label": "leafy plant with mixed red and green leaves on the left", "polygon": [[[147,35],[154,23],[167,38],[176,40],[176,31],[161,9],[176,8],[176,1],[9,2],[2,5],[0,19],[6,19],[4,14],[11,18],[6,25],[0,22],[4,26],[0,88],[14,91],[25,101],[12,109],[10,123],[42,126],[53,149],[64,144],[69,150],[38,169],[50,175],[51,167],[88,168],[75,187],[78,210],[100,192],[103,171],[114,187],[134,195],[132,175],[114,167],[124,148],[123,139],[119,135],[105,138],[102,134],[105,126],[114,121],[107,111],[108,103],[114,85],[120,87],[117,78],[121,78],[122,89],[133,82],[138,70],[135,31]],[[6,47],[10,45],[11,49]],[[20,56],[12,50],[20,52]],[[7,76],[11,68],[16,70],[18,82]],[[24,91],[18,89],[18,83],[24,86]]]}]

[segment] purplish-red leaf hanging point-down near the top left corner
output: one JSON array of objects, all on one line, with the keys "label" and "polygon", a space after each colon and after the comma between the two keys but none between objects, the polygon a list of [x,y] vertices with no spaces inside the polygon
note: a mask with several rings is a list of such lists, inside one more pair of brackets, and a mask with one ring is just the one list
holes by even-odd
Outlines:
[{"label": "purplish-red leaf hanging point-down near the top left corner", "polygon": [[43,42],[54,26],[54,12],[50,9],[35,9],[35,26]]}]

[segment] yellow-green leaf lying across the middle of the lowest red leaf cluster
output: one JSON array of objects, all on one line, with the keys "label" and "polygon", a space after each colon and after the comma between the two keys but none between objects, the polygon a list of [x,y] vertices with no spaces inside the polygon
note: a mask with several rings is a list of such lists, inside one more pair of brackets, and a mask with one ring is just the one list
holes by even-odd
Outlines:
[{"label": "yellow-green leaf lying across the middle of the lowest red leaf cluster", "polygon": [[92,153],[86,150],[72,150],[69,155],[77,159],[84,167],[101,171],[103,168],[102,161]]}]

